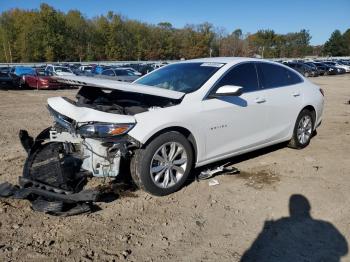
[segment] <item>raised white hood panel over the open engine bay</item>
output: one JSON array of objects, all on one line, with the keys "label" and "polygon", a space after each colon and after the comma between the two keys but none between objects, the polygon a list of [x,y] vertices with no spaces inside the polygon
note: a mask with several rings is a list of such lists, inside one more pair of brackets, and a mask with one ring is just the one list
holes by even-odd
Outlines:
[{"label": "raised white hood panel over the open engine bay", "polygon": [[100,87],[102,89],[120,90],[125,92],[160,96],[170,99],[181,99],[185,95],[185,93],[183,92],[163,89],[159,87],[139,85],[134,83],[125,83],[116,80],[101,79],[87,76],[62,76],[55,78],[57,81],[69,85],[94,86]]}]

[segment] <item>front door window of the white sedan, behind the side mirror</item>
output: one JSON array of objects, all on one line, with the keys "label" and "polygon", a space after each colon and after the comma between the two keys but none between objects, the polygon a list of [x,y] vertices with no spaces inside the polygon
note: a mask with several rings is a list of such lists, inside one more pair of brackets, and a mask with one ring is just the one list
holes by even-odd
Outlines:
[{"label": "front door window of the white sedan, behind the side mirror", "polygon": [[244,63],[233,67],[217,83],[215,90],[224,85],[243,87],[243,92],[252,92],[259,89],[258,77],[253,63]]}]

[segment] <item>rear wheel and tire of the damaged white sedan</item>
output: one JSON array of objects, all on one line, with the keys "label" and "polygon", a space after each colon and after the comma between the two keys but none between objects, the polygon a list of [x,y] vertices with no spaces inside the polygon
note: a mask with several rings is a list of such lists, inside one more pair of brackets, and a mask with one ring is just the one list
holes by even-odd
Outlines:
[{"label": "rear wheel and tire of the damaged white sedan", "polygon": [[294,149],[303,149],[307,147],[310,144],[314,126],[315,114],[310,110],[303,109],[295,122],[293,136],[288,146]]}]

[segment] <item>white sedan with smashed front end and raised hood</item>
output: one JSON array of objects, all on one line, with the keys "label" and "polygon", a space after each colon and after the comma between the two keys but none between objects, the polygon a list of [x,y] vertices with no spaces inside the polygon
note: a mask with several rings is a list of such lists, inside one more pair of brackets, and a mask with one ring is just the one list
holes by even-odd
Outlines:
[{"label": "white sedan with smashed front end and raised hood", "polygon": [[[304,148],[324,103],[323,91],[296,71],[249,58],[183,61],[131,84],[79,76],[59,81],[81,86],[77,100],[48,99],[54,124],[37,140],[50,149],[27,162],[48,164],[55,151],[59,164],[79,159],[76,171],[85,175],[129,170],[153,195],[179,190],[195,167],[284,141]],[[69,184],[72,177],[60,179]]]}]

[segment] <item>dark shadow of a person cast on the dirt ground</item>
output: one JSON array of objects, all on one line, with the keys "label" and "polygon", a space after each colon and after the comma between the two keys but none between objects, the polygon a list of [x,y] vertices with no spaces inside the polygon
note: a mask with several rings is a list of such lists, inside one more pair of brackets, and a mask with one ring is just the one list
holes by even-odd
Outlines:
[{"label": "dark shadow of a person cast on the dirt ground", "polygon": [[315,220],[303,195],[289,200],[290,217],[266,221],[241,261],[340,261],[347,254],[344,236],[329,222]]}]

